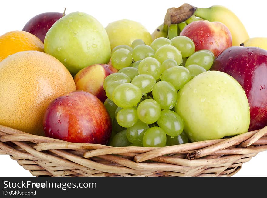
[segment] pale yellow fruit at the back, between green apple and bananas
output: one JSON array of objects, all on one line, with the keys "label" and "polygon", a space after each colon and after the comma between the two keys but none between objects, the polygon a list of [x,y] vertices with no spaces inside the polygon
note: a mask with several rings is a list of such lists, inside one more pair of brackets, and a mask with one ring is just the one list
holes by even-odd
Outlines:
[{"label": "pale yellow fruit at the back, between green apple and bananas", "polygon": [[106,32],[110,39],[111,49],[118,45],[131,46],[136,39],[142,39],[146,45],[150,45],[152,42],[151,34],[142,24],[128,19],[108,24]]}]

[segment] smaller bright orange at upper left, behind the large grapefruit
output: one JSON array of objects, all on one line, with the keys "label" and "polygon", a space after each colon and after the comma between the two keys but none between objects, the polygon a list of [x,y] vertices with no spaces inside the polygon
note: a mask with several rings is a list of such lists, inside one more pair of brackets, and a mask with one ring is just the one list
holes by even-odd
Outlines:
[{"label": "smaller bright orange at upper left, behind the large grapefruit", "polygon": [[11,31],[0,36],[0,62],[16,52],[44,51],[44,44],[35,35],[25,31]]}]

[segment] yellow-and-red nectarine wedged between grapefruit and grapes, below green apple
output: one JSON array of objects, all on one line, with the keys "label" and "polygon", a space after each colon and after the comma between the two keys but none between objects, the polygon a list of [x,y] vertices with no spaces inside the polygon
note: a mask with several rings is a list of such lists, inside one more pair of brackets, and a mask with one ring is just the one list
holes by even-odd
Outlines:
[{"label": "yellow-and-red nectarine wedged between grapefruit and grapes, below green apple", "polygon": [[107,64],[95,64],[85,67],[74,77],[76,89],[90,92],[102,102],[105,102],[107,97],[103,88],[104,79],[117,71],[113,66]]}]

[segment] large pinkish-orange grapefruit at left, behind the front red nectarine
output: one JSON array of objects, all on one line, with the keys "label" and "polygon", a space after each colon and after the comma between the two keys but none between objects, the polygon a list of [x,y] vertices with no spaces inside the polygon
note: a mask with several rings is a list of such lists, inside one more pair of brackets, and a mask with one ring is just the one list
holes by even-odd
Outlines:
[{"label": "large pinkish-orange grapefruit at left, behind the front red nectarine", "polygon": [[75,90],[73,77],[53,56],[39,51],[10,55],[0,62],[0,124],[44,135],[49,103]]}]

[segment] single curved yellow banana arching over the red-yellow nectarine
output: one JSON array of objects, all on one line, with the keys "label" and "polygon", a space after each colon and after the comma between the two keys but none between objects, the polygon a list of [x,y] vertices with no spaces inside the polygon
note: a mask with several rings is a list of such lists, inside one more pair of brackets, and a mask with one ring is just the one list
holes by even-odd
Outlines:
[{"label": "single curved yellow banana arching over the red-yellow nectarine", "polygon": [[231,32],[234,46],[239,46],[249,39],[248,32],[240,19],[228,8],[221,5],[214,5],[209,8],[197,8],[194,12],[197,17],[211,22],[222,22]]}]

